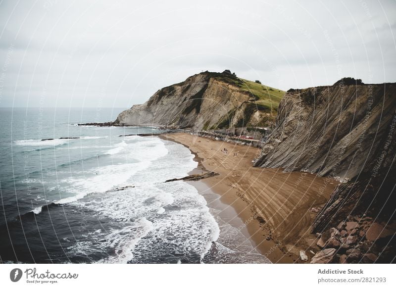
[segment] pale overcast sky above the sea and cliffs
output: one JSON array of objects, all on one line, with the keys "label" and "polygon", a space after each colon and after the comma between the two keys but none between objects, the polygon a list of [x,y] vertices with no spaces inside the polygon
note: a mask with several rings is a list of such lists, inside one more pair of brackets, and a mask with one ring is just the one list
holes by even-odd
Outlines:
[{"label": "pale overcast sky above the sea and cliffs", "polygon": [[394,0],[0,0],[0,107],[131,107],[202,71],[396,82]]}]

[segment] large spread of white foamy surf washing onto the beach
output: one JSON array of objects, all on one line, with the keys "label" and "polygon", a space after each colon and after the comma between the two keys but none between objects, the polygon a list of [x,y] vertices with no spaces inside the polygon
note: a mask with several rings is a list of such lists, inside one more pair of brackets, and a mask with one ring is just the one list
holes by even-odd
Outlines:
[{"label": "large spread of white foamy surf washing onto the beach", "polygon": [[[106,151],[112,155],[112,163],[118,164],[59,180],[68,194],[55,203],[70,203],[76,209],[87,207],[98,219],[111,223],[111,229],[81,236],[69,250],[74,254],[96,250],[103,253],[111,247],[114,255],[99,261],[105,263],[186,253],[194,261],[202,260],[218,239],[219,227],[193,186],[164,183],[187,176],[196,168],[194,155],[180,144],[155,137],[135,136],[120,141]],[[114,190],[129,185],[134,188]],[[185,262],[181,257],[173,261],[181,260]]]}]

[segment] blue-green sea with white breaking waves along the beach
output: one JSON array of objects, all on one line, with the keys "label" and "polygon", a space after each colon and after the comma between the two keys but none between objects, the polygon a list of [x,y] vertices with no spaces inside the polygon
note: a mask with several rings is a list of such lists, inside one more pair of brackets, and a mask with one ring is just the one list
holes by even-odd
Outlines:
[{"label": "blue-green sea with white breaking waves along the beach", "polygon": [[163,130],[77,125],[122,110],[0,108],[0,262],[269,263],[194,186],[165,183],[198,163],[137,135]]}]

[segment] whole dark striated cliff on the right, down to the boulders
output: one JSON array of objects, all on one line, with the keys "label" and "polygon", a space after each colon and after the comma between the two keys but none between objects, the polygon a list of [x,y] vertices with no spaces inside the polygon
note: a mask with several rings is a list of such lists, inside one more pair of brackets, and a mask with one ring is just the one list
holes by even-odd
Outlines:
[{"label": "whole dark striated cliff on the right, down to the boulders", "polygon": [[318,212],[313,232],[337,227],[350,215],[388,223],[395,219],[395,130],[395,83],[343,79],[289,90],[254,165],[344,180]]}]

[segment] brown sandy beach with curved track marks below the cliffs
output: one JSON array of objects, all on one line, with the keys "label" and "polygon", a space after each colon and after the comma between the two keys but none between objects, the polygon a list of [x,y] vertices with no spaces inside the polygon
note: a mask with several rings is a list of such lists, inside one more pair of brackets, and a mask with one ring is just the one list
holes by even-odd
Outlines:
[{"label": "brown sandy beach with curved track marks below the cliffs", "polygon": [[[199,165],[191,174],[206,171],[220,175],[200,180],[194,185],[199,192],[210,189],[220,200],[231,205],[244,223],[250,240],[272,263],[309,263],[317,252],[316,236],[310,227],[316,213],[311,208],[323,205],[338,184],[325,183],[315,174],[281,169],[252,167],[259,148],[214,141],[189,133],[162,134],[161,139],[188,147]],[[226,148],[228,153],[222,150]],[[237,156],[234,156],[237,153]],[[324,190],[321,194],[319,191]],[[210,203],[208,203],[210,205]],[[246,226],[245,226],[246,225]],[[306,251],[308,261],[299,259],[299,250]]]}]

